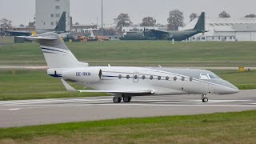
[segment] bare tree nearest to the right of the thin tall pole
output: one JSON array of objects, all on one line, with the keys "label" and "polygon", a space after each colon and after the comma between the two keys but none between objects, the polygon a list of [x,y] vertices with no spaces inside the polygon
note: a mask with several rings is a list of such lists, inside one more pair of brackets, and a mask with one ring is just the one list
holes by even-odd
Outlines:
[{"label": "bare tree nearest to the right of the thin tall pole", "polygon": [[116,29],[121,31],[124,26],[131,26],[133,22],[130,21],[128,14],[119,14],[118,18],[114,18],[114,23],[116,24]]}]

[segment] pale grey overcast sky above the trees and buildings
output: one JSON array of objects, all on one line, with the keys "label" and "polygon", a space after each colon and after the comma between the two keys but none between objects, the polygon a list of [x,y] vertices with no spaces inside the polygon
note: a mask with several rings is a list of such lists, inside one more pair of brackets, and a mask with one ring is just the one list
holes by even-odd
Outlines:
[{"label": "pale grey overcast sky above the trees and buildings", "polygon": [[[231,18],[242,18],[246,14],[256,14],[255,0],[103,0],[104,22],[114,23],[120,13],[127,13],[134,23],[141,23],[146,16],[154,17],[158,23],[166,24],[170,10],[184,12],[185,22],[195,12],[206,12],[206,17],[217,18],[226,10]],[[98,24],[101,20],[101,0],[70,0],[70,15],[73,22]],[[14,26],[33,21],[35,0],[0,0],[0,18],[8,18]]]}]

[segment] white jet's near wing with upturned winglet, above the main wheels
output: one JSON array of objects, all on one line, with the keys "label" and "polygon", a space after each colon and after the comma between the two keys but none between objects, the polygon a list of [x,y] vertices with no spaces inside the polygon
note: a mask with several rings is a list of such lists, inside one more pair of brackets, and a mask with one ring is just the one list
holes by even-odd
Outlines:
[{"label": "white jet's near wing with upturned winglet, above the main wheels", "polygon": [[114,94],[154,94],[154,90],[75,90],[63,78],[61,79],[66,90],[80,93],[114,93]]}]

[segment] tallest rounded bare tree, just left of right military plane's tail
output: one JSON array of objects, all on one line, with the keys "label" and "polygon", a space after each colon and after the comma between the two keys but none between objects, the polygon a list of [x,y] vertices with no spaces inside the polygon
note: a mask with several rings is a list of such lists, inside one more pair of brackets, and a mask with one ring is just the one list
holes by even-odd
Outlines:
[{"label": "tallest rounded bare tree, just left of right military plane's tail", "polygon": [[168,30],[178,30],[178,26],[183,26],[184,16],[179,10],[170,11],[168,21]]}]

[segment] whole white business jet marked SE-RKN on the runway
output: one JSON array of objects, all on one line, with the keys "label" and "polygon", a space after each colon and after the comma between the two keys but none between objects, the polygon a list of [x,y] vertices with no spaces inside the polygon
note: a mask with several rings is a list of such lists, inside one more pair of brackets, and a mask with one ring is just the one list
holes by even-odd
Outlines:
[{"label": "whole white business jet marked SE-RKN on the runway", "polygon": [[[49,66],[47,74],[60,78],[67,90],[114,94],[113,101],[116,103],[122,100],[130,102],[134,96],[174,94],[202,94],[202,102],[208,102],[206,94],[239,92],[236,86],[208,70],[89,66],[88,63],[78,62],[58,34],[22,38],[40,44]],[[75,90],[67,82],[94,90]]]}]

